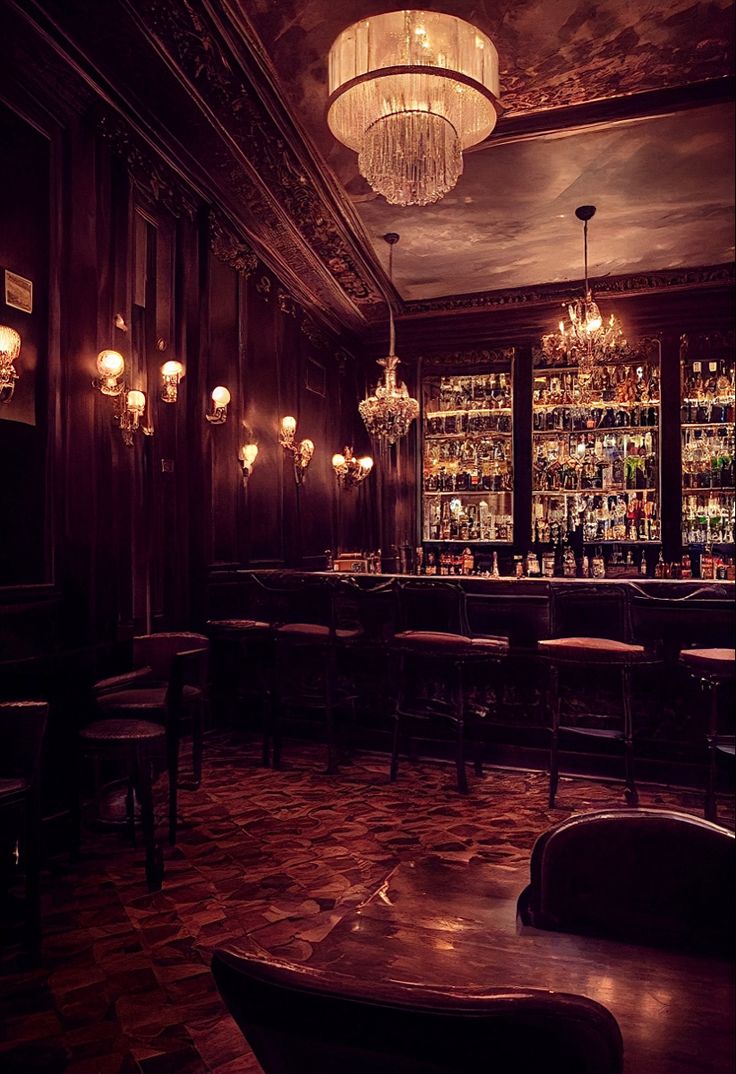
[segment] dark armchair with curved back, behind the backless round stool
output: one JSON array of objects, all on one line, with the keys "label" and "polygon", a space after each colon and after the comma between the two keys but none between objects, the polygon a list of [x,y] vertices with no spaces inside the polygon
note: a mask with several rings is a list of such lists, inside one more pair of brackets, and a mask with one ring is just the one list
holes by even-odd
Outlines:
[{"label": "dark armchair with curved back, behind the backless round stool", "polygon": [[[185,648],[186,647],[186,648]],[[176,842],[179,742],[188,724],[192,728],[193,788],[202,779],[203,709],[206,697],[208,639],[202,634],[145,635],[133,642],[134,658],[147,657],[148,667],[98,682],[93,687],[98,710],[124,725],[132,721],[131,734],[148,721],[163,726],[169,770],[169,842]],[[165,678],[164,678],[165,677]],[[161,682],[163,679],[163,682]]]}]

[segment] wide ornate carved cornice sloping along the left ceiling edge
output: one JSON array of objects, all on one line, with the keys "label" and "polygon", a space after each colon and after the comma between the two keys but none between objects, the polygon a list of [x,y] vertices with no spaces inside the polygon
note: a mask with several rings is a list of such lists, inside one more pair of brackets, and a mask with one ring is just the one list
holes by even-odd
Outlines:
[{"label": "wide ornate carved cornice sloping along the left ceiling edge", "polygon": [[264,189],[271,194],[351,302],[379,303],[380,294],[358,264],[332,208],[259,93],[228,55],[204,4],[200,0],[140,0],[135,15],[252,162],[258,176],[254,183],[260,184],[258,200]]}]

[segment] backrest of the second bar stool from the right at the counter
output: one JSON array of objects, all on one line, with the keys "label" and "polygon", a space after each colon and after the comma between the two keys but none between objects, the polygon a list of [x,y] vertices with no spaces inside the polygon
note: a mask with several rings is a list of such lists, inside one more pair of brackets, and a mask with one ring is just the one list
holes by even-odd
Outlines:
[{"label": "backrest of the second bar stool from the right at the counter", "polygon": [[550,585],[553,638],[610,638],[627,641],[625,594],[620,585]]}]

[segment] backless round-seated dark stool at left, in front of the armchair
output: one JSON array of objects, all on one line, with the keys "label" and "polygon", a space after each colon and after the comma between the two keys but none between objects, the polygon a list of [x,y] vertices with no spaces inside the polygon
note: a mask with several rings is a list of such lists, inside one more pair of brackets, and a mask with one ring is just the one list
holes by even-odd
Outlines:
[{"label": "backless round-seated dark stool at left, in front of the armchair", "polygon": [[[134,796],[141,807],[141,826],[145,842],[145,872],[148,888],[158,890],[163,883],[163,854],[156,841],[154,815],[154,769],[167,764],[165,728],[147,720],[96,720],[80,731],[81,752],[84,758],[113,761],[128,782],[128,823],[133,827]],[[171,797],[171,786],[169,788]],[[81,803],[76,804],[76,832],[81,838]]]}]

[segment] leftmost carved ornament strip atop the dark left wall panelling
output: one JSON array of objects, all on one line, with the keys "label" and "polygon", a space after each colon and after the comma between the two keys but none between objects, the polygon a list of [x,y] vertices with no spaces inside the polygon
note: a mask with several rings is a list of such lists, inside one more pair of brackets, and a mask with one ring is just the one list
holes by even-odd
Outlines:
[{"label": "leftmost carved ornament strip atop the dark left wall panelling", "polygon": [[122,116],[105,108],[97,127],[113,153],[125,160],[132,182],[149,204],[161,204],[174,216],[194,219],[198,208],[194,195],[171,169],[144,148]]}]

